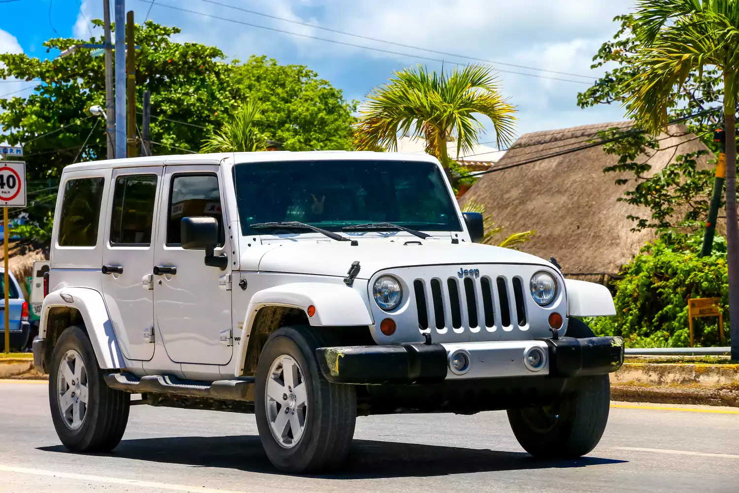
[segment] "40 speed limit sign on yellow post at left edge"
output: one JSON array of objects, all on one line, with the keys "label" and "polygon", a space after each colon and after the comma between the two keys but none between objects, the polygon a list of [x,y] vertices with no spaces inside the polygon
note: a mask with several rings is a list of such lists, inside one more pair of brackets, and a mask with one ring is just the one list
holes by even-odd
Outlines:
[{"label": "40 speed limit sign on yellow post at left edge", "polygon": [[[22,151],[21,151],[22,154]],[[18,155],[18,154],[14,154]],[[8,229],[7,208],[26,205],[26,163],[23,161],[0,161],[0,205],[2,206],[3,229],[3,288],[5,295],[5,352],[10,353],[10,304],[8,282]]]}]

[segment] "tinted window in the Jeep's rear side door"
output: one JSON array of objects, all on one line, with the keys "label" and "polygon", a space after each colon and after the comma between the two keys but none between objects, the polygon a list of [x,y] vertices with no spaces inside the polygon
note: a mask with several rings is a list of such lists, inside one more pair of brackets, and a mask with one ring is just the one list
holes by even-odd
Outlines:
[{"label": "tinted window in the Jeep's rear side door", "polygon": [[112,245],[151,245],[151,222],[156,198],[156,174],[131,174],[115,180],[110,218]]}]

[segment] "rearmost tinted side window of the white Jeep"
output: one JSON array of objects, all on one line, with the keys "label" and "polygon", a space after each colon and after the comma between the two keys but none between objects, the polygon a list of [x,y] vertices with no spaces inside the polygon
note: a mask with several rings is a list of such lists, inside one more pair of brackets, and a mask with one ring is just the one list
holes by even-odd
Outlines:
[{"label": "rearmost tinted side window of the white Jeep", "polygon": [[105,178],[69,180],[59,219],[59,246],[95,246]]}]

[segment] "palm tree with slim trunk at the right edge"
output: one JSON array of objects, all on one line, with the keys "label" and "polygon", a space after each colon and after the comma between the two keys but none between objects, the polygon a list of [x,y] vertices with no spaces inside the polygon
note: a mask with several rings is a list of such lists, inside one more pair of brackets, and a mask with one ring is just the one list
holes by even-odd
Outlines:
[{"label": "palm tree with slim trunk at the right edge", "polygon": [[736,194],[736,105],[739,97],[739,1],[639,0],[634,31],[640,41],[624,104],[638,126],[667,129],[667,110],[691,72],[723,76],[726,132],[726,240],[732,359],[739,359],[739,225]]}]

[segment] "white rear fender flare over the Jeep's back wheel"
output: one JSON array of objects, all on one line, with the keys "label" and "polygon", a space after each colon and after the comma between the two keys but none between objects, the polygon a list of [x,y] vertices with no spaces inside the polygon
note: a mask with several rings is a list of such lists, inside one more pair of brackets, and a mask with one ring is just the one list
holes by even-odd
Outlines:
[{"label": "white rear fender flare over the Jeep's back wheel", "polygon": [[44,339],[44,361],[50,361],[56,340],[70,325],[87,333],[101,369],[126,367],[103,296],[90,288],[62,288],[44,298],[38,326],[38,337]]}]

